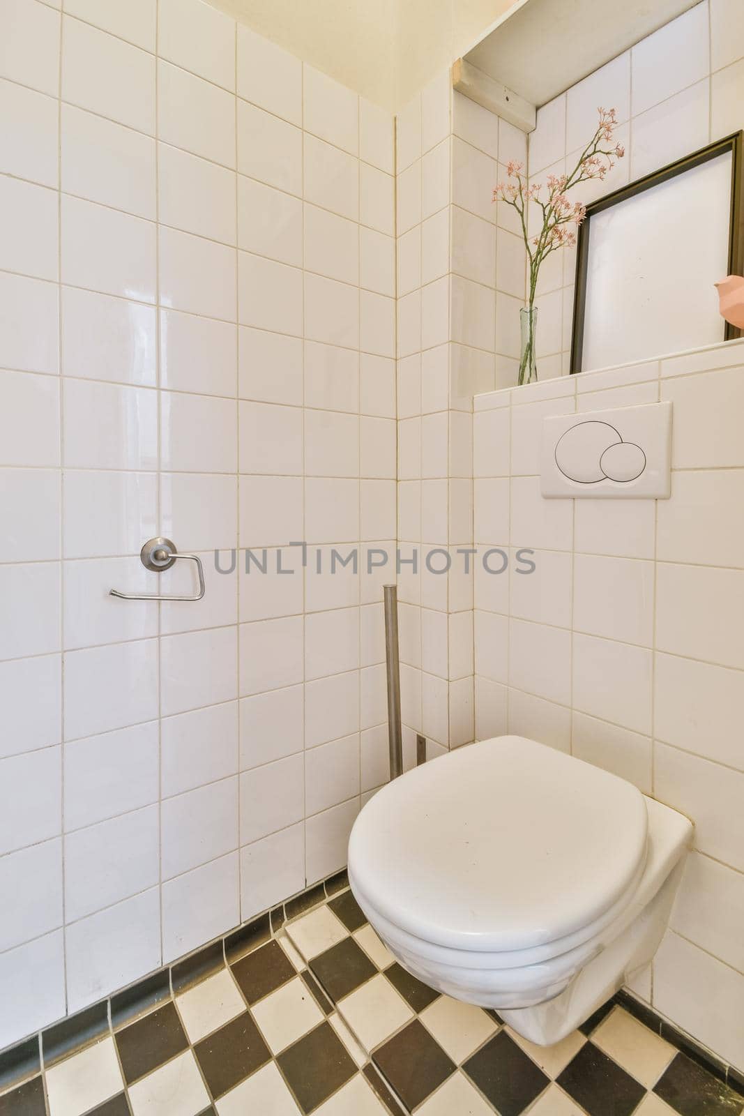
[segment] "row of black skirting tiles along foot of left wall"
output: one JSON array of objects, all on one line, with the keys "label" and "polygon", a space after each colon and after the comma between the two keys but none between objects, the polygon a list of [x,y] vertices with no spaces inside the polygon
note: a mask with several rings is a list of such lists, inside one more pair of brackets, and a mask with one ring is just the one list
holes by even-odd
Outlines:
[{"label": "row of black skirting tiles along foot of left wall", "polygon": [[281,927],[348,887],[346,869],[305,888],[222,937],[149,973],[105,1000],[76,1012],[0,1051],[0,1095],[103,1035],[168,1000],[223,965],[244,956],[277,935]]}]

